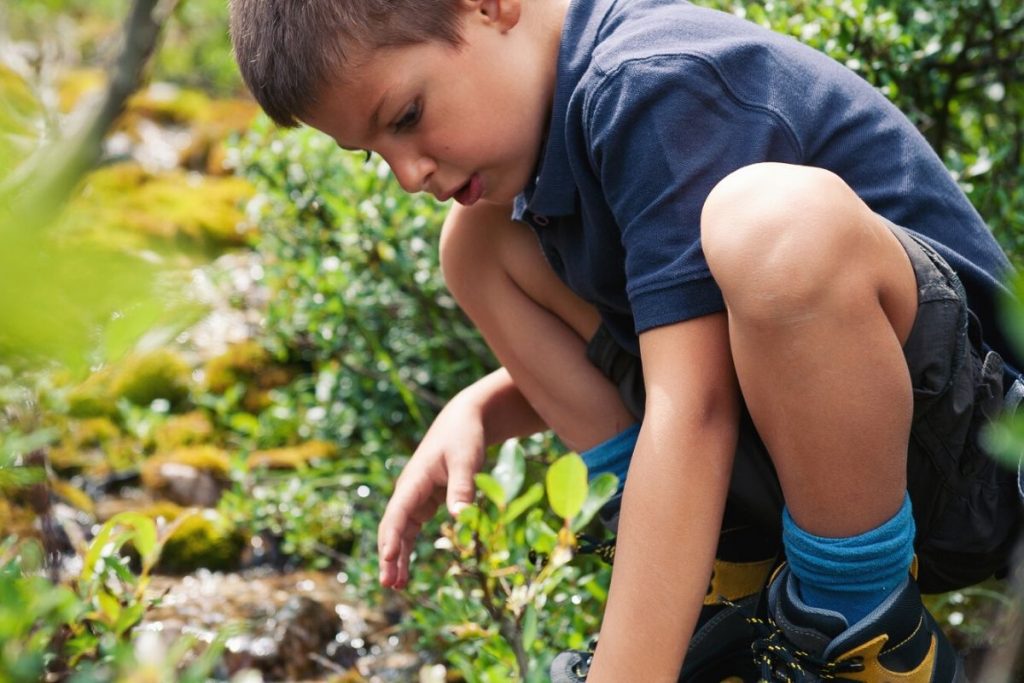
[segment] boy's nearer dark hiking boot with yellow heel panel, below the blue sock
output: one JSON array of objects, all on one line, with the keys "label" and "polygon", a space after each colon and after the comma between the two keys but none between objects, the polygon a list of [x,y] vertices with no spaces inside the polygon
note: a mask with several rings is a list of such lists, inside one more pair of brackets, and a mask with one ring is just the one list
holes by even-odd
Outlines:
[{"label": "boy's nearer dark hiking boot with yellow heel panel, below the blue sock", "polygon": [[967,681],[961,658],[925,608],[909,574],[885,602],[852,626],[839,612],[805,604],[788,566],[772,579],[767,606],[763,636],[754,643],[762,680]]}]

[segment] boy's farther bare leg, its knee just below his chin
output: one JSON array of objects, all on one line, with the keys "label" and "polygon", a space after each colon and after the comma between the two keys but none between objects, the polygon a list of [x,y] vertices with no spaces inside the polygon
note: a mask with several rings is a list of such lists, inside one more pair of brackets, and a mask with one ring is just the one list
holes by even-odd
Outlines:
[{"label": "boy's farther bare leg, its knee just below his chin", "polygon": [[449,289],[541,418],[585,451],[635,422],[586,357],[600,324],[548,265],[530,228],[504,207],[456,207],[441,237]]}]

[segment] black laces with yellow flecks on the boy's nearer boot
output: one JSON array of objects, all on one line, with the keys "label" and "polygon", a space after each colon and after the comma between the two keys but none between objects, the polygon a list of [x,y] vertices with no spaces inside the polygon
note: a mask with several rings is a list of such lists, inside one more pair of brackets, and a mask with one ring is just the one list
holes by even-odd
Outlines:
[{"label": "black laces with yellow flecks on the boy's nearer boot", "polygon": [[758,683],[850,681],[852,679],[843,678],[843,674],[864,670],[862,657],[826,661],[796,647],[786,640],[785,634],[771,617],[763,620],[751,616],[746,621],[762,633],[751,644],[754,661],[761,670]]}]

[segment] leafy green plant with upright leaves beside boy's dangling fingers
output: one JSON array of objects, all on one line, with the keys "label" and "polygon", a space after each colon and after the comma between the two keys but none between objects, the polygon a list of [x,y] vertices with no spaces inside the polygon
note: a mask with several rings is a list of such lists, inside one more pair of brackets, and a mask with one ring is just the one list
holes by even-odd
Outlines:
[{"label": "leafy green plant with upright leaves beside boy's dangling fingers", "polygon": [[522,447],[506,442],[494,469],[476,476],[477,502],[442,526],[435,547],[449,551],[445,580],[414,570],[409,591],[423,597],[411,616],[423,645],[470,683],[548,680],[555,654],[597,633],[609,567],[569,560],[615,483],[605,474],[588,486],[575,454],[530,472]]}]

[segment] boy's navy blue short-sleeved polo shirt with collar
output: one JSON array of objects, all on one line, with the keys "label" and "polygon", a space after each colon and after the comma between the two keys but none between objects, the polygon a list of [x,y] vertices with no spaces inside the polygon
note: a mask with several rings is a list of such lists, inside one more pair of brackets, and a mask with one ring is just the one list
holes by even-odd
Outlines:
[{"label": "boy's navy blue short-sleeved polo shirt with collar", "polygon": [[1007,258],[906,117],[820,52],[680,0],[570,4],[545,147],[514,217],[639,354],[645,330],[724,309],[700,209],[724,176],[764,161],[837,173],[932,244],[995,327]]}]

